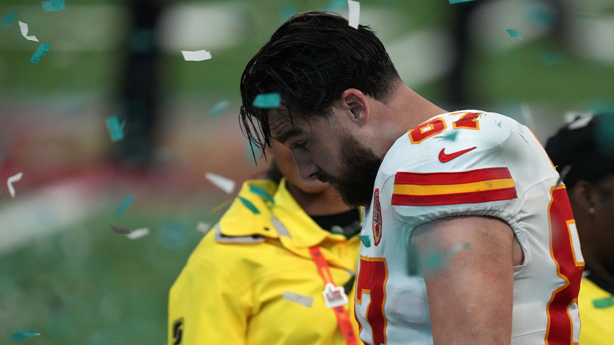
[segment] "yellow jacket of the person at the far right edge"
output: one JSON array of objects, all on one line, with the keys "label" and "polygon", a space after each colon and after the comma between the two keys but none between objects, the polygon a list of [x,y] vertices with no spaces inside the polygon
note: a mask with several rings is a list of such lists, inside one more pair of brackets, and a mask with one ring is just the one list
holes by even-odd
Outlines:
[{"label": "yellow jacket of the person at the far right edge", "polygon": [[580,282],[580,345],[614,344],[614,306],[596,308],[594,300],[610,298],[612,295],[602,290],[594,282],[582,278]]}]

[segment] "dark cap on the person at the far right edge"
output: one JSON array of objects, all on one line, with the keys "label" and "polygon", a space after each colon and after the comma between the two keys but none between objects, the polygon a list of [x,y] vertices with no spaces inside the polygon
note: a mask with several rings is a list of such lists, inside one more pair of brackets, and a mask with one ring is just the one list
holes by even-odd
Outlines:
[{"label": "dark cap on the person at the far right edge", "polygon": [[614,175],[614,113],[576,118],[546,142],[546,152],[571,189],[579,180],[599,184]]}]

